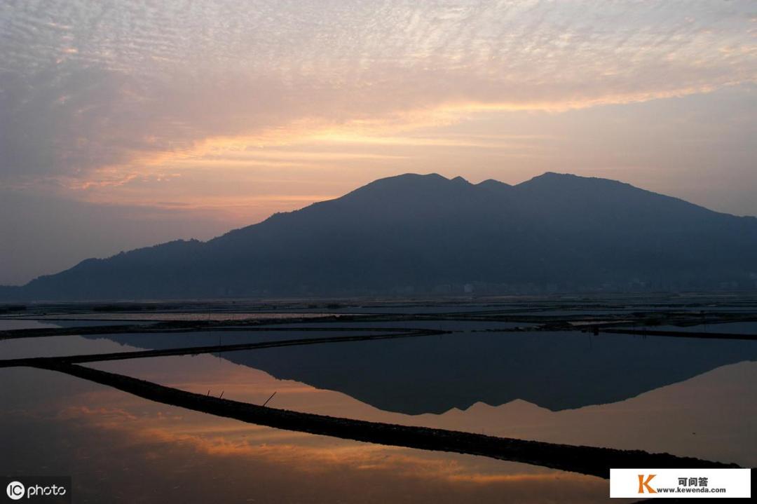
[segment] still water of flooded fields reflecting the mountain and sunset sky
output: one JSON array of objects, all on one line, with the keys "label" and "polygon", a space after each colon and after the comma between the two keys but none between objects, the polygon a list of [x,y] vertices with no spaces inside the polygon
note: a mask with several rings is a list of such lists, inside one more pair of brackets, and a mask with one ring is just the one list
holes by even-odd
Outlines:
[{"label": "still water of flooded fields reflecting the mountain and sunset sky", "polygon": [[[11,325],[51,324],[2,320],[0,330]],[[425,326],[439,325],[456,332],[86,366],[248,403],[276,392],[269,406],[301,412],[757,465],[754,341],[482,332],[509,325],[468,321]],[[324,335],[333,334],[66,336],[0,341],[0,353],[8,359]],[[0,453],[9,454],[0,458],[0,473],[70,474],[75,502],[609,500],[600,478],[265,428],[39,369],[0,369],[0,379],[0,429],[13,433],[0,439]]]}]

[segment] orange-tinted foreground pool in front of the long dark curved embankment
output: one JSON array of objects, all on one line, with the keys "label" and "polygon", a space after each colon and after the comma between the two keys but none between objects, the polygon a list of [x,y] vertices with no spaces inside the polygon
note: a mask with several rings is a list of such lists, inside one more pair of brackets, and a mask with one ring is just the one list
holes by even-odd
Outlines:
[{"label": "orange-tinted foreground pool in front of the long dark curved embankment", "polygon": [[15,433],[0,441],[13,454],[0,470],[71,474],[76,502],[601,502],[608,494],[599,478],[281,431],[55,372],[0,371],[57,396],[25,403],[20,389],[3,392],[19,407],[0,421]]}]

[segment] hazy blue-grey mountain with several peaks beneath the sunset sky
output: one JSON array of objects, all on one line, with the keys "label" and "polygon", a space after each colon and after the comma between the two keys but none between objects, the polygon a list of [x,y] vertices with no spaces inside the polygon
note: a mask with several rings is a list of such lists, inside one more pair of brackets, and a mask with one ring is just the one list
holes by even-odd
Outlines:
[{"label": "hazy blue-grey mountain with several peaks beneath the sunset sky", "polygon": [[18,300],[757,287],[757,219],[608,179],[407,174],[207,242],[89,259]]}]

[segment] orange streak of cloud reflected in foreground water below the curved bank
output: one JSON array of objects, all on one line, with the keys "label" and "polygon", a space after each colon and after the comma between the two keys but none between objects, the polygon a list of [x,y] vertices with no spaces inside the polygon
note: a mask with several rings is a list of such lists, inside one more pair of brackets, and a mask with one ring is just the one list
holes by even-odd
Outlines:
[{"label": "orange streak of cloud reflected in foreground water below the curved bank", "polygon": [[[476,457],[426,453],[396,446],[355,443],[256,425],[240,425],[205,415],[200,418],[201,424],[194,425],[186,419],[165,418],[160,411],[136,416],[120,408],[71,407],[60,418],[120,432],[139,445],[150,443],[191,447],[204,456],[232,457],[239,463],[244,463],[246,459],[265,460],[286,465],[288,471],[303,473],[371,471],[400,478],[481,486],[525,484],[535,487],[556,485],[562,481],[569,486],[581,487],[592,486],[599,481],[580,474],[502,461],[480,465]],[[492,473],[492,466],[501,466],[503,472]]]}]

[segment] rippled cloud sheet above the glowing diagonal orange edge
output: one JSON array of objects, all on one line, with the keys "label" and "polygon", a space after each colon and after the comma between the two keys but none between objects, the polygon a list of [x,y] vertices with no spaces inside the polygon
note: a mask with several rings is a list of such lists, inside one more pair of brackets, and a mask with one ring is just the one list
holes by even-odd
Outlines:
[{"label": "rippled cloud sheet above the glowing diagonal orange edge", "polygon": [[[0,179],[122,184],[213,139],[301,139],[757,78],[749,2],[0,7]],[[72,182],[79,180],[82,183]]]}]

